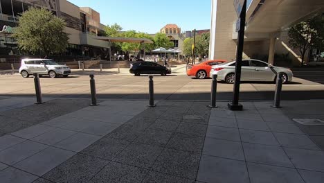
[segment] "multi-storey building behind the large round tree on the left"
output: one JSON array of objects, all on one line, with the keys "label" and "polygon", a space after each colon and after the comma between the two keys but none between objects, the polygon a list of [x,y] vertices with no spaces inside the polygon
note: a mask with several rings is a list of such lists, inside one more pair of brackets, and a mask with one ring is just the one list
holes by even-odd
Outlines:
[{"label": "multi-storey building behind the large round tree on the left", "polygon": [[106,55],[109,43],[94,39],[104,35],[100,14],[89,7],[78,7],[66,0],[0,0],[0,55],[21,55],[12,30],[18,16],[31,6],[47,8],[53,15],[66,21],[64,32],[69,34],[69,46],[65,55],[98,57]]}]

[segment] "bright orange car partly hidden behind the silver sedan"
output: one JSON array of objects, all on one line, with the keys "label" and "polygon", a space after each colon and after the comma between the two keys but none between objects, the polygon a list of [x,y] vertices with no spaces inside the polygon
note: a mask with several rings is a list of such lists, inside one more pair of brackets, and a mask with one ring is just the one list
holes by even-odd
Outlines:
[{"label": "bright orange car partly hidden behind the silver sedan", "polygon": [[198,79],[209,78],[209,72],[213,65],[222,64],[226,60],[207,60],[199,64],[189,65],[187,69],[188,76],[195,76]]}]

